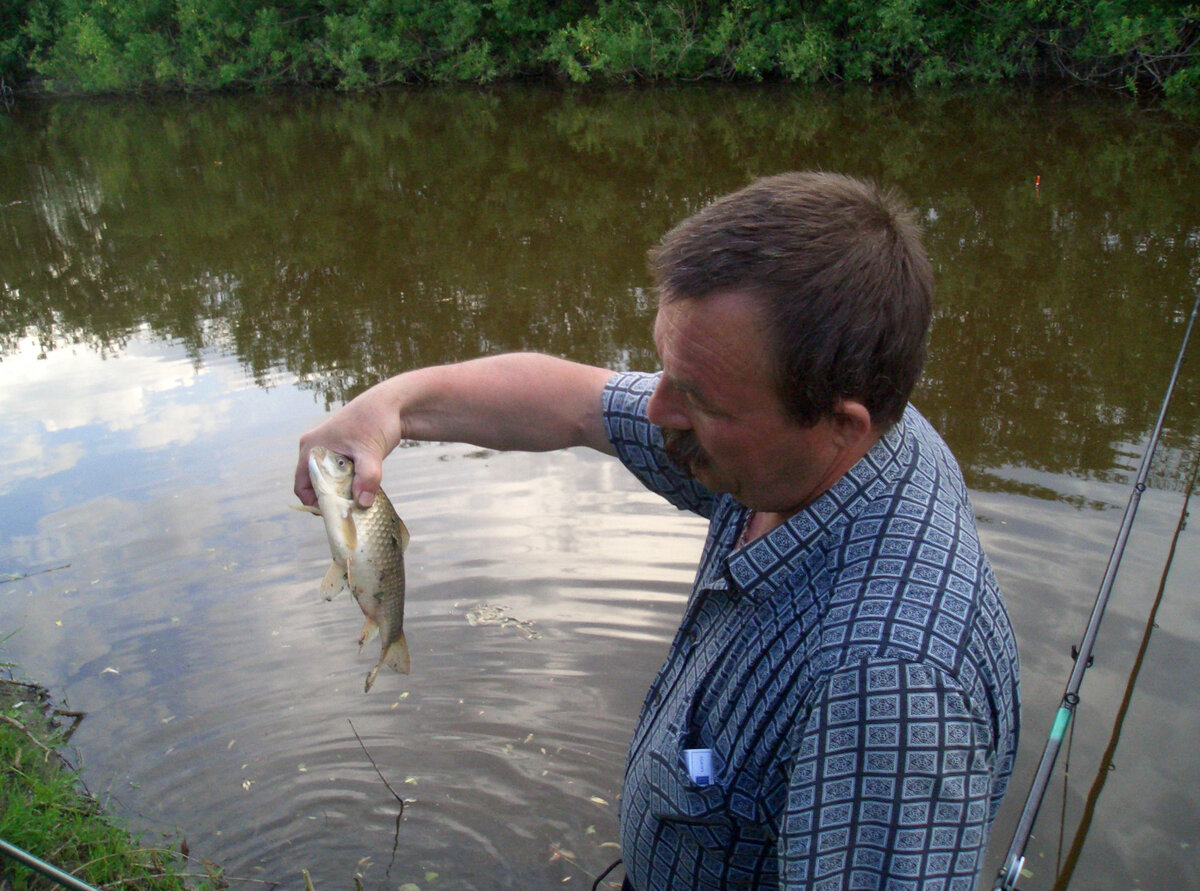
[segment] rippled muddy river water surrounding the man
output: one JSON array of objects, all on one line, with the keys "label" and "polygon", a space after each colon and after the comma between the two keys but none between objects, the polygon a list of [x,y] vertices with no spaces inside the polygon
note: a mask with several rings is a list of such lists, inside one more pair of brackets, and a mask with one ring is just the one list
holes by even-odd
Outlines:
[{"label": "rippled muddy river water surrounding the man", "polygon": [[[896,185],[938,273],[917,402],[1022,654],[990,883],[1195,293],[1194,131],[1081,96],[521,88],[25,103],[0,144],[0,662],[89,712],[114,812],[289,887],[589,887],[703,536],[596,455],[400,449],[413,674],[365,695],[296,436],[434,361],[653,367],[673,222],[787,168]],[[1198,444],[1193,355],[1022,887],[1200,884]]]}]

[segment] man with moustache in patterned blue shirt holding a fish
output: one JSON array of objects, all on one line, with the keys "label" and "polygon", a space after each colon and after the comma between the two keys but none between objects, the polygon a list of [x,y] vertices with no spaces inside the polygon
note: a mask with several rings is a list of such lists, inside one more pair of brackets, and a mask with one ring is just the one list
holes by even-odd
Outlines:
[{"label": "man with moustache in patterned blue shirt holding a fish", "polygon": [[907,406],[931,271],[898,199],[751,184],[652,252],[662,372],[498,355],[300,441],[368,502],[402,439],[589,446],[709,519],[622,793],[626,887],[971,889],[1016,752],[1016,646],[961,474]]}]

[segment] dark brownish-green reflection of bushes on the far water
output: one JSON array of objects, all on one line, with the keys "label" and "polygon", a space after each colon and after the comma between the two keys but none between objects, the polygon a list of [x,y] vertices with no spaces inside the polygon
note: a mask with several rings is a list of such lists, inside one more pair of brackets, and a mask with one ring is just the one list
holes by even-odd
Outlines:
[{"label": "dark brownish-green reflection of bushes on the far water", "polygon": [[[146,327],[330,405],[500,349],[653,364],[642,257],[674,221],[755,174],[878,177],[929,228],[920,401],[979,486],[1123,464],[1200,247],[1192,136],[1099,100],[448,90],[56,103],[4,126],[0,348]],[[1196,400],[1180,411],[1186,435]]]}]

